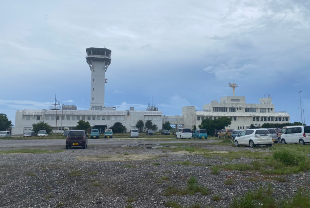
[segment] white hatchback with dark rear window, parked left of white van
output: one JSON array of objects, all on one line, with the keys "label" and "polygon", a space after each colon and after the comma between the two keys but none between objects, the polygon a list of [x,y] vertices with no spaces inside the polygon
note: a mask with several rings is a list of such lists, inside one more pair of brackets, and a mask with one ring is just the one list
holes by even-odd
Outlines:
[{"label": "white hatchback with dark rear window, parked left of white van", "polygon": [[272,146],[272,138],[268,130],[266,129],[247,129],[242,131],[234,140],[235,145],[267,145]]}]

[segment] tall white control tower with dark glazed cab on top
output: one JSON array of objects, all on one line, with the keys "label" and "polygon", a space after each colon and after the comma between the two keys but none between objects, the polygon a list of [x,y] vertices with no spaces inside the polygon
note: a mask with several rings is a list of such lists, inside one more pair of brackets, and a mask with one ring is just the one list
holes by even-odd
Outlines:
[{"label": "tall white control tower with dark glazed cab on top", "polygon": [[89,110],[104,109],[105,72],[111,64],[111,50],[107,48],[86,48],[86,62],[91,69],[91,106]]}]

